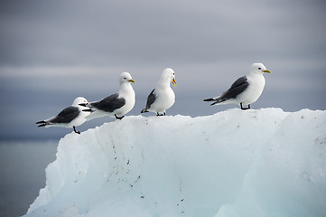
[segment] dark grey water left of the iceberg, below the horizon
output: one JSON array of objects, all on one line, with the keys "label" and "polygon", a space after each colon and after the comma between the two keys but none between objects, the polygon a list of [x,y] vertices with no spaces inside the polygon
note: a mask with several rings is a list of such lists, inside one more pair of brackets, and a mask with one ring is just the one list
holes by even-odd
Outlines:
[{"label": "dark grey water left of the iceberg, below the horizon", "polygon": [[45,186],[59,141],[0,142],[0,217],[22,216]]}]

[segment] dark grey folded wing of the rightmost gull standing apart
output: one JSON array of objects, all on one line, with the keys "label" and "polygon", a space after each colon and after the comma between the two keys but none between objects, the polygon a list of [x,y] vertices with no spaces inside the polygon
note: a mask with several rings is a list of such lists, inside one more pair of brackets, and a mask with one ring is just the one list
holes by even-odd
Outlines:
[{"label": "dark grey folded wing of the rightmost gull standing apart", "polygon": [[247,77],[243,76],[241,78],[238,78],[238,80],[234,81],[234,83],[231,85],[231,87],[222,93],[222,95],[219,97],[219,101],[225,101],[228,99],[235,99],[237,96],[242,93],[244,90],[247,89],[249,83],[247,82]]}]

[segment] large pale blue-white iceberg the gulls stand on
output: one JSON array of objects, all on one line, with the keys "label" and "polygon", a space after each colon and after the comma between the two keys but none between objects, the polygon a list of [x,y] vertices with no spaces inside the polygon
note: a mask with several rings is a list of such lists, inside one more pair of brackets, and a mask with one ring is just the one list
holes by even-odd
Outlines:
[{"label": "large pale blue-white iceberg the gulls stand on", "polygon": [[62,138],[25,216],[326,216],[326,111],[126,117]]}]

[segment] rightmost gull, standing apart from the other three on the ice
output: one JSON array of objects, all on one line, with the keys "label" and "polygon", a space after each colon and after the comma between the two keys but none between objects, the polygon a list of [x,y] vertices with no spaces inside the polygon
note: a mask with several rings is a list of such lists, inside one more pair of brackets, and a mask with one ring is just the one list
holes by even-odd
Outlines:
[{"label": "rightmost gull, standing apart from the other three on the ice", "polygon": [[[254,63],[251,65],[249,73],[236,80],[227,91],[218,97],[204,99],[204,101],[215,101],[211,106],[218,103],[236,103],[240,104],[243,110],[250,109],[250,104],[256,102],[264,90],[264,72],[271,73],[262,63]],[[247,108],[243,108],[243,105],[247,105]]]}]

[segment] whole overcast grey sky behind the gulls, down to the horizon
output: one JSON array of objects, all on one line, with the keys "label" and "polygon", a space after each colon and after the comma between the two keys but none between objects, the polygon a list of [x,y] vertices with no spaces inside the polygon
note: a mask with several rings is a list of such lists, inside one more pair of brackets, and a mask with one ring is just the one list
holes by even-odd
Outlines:
[{"label": "whole overcast grey sky behind the gulls, down to the horizon", "polygon": [[[118,90],[123,71],[136,81],[139,115],[161,72],[176,72],[168,115],[214,114],[215,97],[263,62],[265,90],[253,109],[326,109],[326,3],[298,0],[1,1],[0,138],[63,137],[37,128],[79,96]],[[147,114],[146,114],[147,115]],[[85,130],[113,118],[79,127]]]}]

